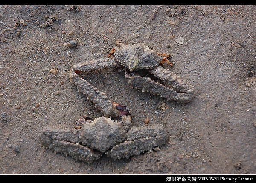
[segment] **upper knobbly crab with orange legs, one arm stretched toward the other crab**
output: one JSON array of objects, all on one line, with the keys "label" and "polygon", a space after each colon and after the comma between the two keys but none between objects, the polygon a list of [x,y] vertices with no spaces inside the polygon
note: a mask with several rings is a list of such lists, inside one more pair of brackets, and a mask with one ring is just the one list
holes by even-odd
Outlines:
[{"label": "upper knobbly crab with orange legs, one arm stretched toward the other crab", "polygon": [[[125,71],[129,86],[141,89],[142,92],[157,94],[166,100],[179,103],[188,103],[192,100],[195,94],[194,87],[181,80],[180,76],[160,66],[163,62],[173,66],[166,58],[166,54],[149,49],[145,43],[125,45],[117,40],[116,44],[120,47],[111,49],[107,58],[76,64],[69,71],[70,81],[87,96],[88,100],[93,102],[104,116],[117,117],[126,115],[129,111],[126,106],[112,102],[105,93],[80,78],[78,75],[80,72],[116,67],[119,71]],[[150,77],[145,77],[143,74]]]}]

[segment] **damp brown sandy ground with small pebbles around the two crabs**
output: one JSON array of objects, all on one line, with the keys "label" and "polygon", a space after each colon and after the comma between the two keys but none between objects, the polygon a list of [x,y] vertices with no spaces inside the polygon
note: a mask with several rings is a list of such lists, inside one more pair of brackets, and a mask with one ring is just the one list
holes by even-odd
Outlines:
[{"label": "damp brown sandy ground with small pebbles around the two crabs", "polygon": [[[256,6],[0,6],[0,173],[256,174],[255,26]],[[117,39],[172,54],[166,69],[195,87],[180,105],[129,88],[115,69],[86,75],[129,106],[134,126],[147,117],[163,124],[168,143],[92,164],[42,147],[43,126],[74,128],[81,115],[102,115],[67,71],[106,57]]]}]

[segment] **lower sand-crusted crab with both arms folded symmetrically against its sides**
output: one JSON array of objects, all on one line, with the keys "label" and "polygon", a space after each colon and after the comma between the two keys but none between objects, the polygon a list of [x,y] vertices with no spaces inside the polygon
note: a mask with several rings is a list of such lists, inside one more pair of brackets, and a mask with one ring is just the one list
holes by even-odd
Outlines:
[{"label": "lower sand-crusted crab with both arms folded symmetrically against its sides", "polygon": [[75,129],[45,126],[39,139],[41,144],[55,153],[90,164],[103,154],[113,160],[128,159],[163,146],[168,140],[163,125],[131,127],[131,116],[115,121],[104,116],[86,118],[79,118],[81,126]]}]

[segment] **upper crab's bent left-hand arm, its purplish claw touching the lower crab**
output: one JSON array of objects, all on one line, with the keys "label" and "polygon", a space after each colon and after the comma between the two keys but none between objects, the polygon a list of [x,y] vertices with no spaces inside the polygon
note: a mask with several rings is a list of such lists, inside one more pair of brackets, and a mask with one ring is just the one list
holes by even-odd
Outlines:
[{"label": "upper crab's bent left-hand arm, its purplish claw touching the lower crab", "polygon": [[105,69],[115,67],[116,63],[112,59],[93,60],[91,63],[76,64],[70,69],[69,77],[80,92],[83,92],[87,99],[93,102],[95,107],[101,111],[105,117],[117,117],[126,115],[129,111],[124,111],[125,106],[113,103],[105,93],[99,91],[96,87],[92,86],[86,80],[79,77],[77,73],[81,71],[92,71],[96,69]]}]

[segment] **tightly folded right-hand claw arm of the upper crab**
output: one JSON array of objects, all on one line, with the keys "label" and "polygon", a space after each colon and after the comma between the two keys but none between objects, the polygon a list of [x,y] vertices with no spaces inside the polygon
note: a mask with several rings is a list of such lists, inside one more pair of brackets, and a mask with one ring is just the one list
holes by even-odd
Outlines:
[{"label": "tightly folded right-hand claw arm of the upper crab", "polygon": [[186,84],[177,75],[171,71],[163,69],[158,66],[156,69],[151,70],[157,78],[163,81],[166,85],[157,83],[149,77],[142,77],[139,75],[130,76],[125,75],[129,79],[130,86],[142,89],[142,92],[151,92],[151,94],[158,94],[166,100],[174,100],[180,103],[188,103],[194,96],[194,87]]}]

